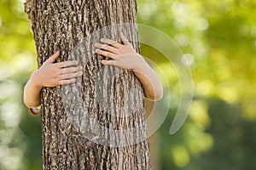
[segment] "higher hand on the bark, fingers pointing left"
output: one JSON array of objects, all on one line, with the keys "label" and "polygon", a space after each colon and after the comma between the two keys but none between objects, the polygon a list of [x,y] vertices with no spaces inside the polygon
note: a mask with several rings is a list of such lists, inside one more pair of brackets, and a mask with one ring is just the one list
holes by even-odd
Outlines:
[{"label": "higher hand on the bark, fingers pointing left", "polygon": [[111,60],[102,60],[103,65],[114,65],[123,69],[136,71],[145,64],[143,56],[137,54],[131,43],[126,39],[124,34],[120,33],[120,38],[124,45],[110,39],[102,38],[101,42],[96,42],[96,54],[101,54],[111,58]]}]

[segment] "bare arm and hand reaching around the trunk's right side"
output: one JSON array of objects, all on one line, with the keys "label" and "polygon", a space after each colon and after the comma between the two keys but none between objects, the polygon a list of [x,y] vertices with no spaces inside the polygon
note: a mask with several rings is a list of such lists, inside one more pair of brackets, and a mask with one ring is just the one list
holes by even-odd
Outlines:
[{"label": "bare arm and hand reaching around the trunk's right side", "polygon": [[111,60],[102,60],[102,64],[131,69],[142,82],[145,97],[152,100],[161,99],[163,88],[154,70],[143,59],[142,55],[136,53],[123,33],[120,33],[120,38],[124,45],[105,38],[101,39],[102,43],[95,43],[96,54],[111,58]]}]

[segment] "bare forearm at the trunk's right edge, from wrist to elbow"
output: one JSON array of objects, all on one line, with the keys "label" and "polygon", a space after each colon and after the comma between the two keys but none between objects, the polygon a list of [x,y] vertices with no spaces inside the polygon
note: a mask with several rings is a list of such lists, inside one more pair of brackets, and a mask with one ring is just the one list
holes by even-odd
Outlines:
[{"label": "bare forearm at the trunk's right edge, from wrist to elbow", "polygon": [[147,99],[159,100],[163,96],[163,88],[154,70],[143,59],[143,65],[133,70],[136,77],[142,83]]}]

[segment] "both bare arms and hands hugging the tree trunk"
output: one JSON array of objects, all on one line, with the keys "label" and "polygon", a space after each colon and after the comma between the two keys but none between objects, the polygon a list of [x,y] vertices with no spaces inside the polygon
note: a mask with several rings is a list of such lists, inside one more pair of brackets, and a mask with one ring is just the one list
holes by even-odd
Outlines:
[{"label": "both bare arms and hands hugging the tree trunk", "polygon": [[[102,60],[103,65],[114,65],[134,72],[143,85],[145,98],[159,100],[163,96],[163,88],[154,70],[137,54],[123,33],[120,38],[124,44],[102,38],[96,42],[96,54],[110,58]],[[82,76],[83,68],[77,60],[54,63],[60,52],[55,53],[44,62],[37,71],[32,73],[24,88],[24,103],[29,108],[41,105],[40,93],[43,87],[56,87],[73,83]],[[67,68],[68,67],[68,68]]]}]

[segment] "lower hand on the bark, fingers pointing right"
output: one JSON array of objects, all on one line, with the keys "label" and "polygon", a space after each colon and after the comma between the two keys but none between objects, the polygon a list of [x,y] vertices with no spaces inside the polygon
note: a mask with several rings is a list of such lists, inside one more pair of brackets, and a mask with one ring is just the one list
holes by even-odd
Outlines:
[{"label": "lower hand on the bark, fingers pointing right", "polygon": [[76,81],[83,74],[77,60],[54,63],[60,52],[53,54],[32,74],[31,82],[38,87],[56,87]]}]

